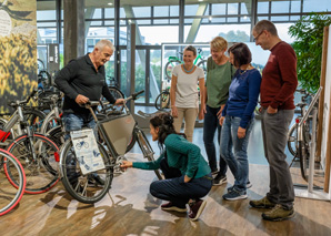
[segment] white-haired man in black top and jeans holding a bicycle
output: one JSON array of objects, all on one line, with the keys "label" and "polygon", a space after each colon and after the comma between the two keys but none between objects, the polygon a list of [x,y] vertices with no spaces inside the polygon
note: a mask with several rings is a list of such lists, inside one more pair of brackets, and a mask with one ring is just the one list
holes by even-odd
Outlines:
[{"label": "white-haired man in black top and jeans holding a bicycle", "polygon": [[[99,101],[103,95],[112,104],[123,103],[123,99],[116,100],[111,95],[104,78],[104,64],[113,51],[111,41],[100,40],[91,53],[71,60],[57,75],[54,82],[64,93],[63,122],[67,132],[81,130],[83,126],[94,129],[92,114],[80,106],[89,100]],[[102,184],[99,176],[94,178]]]}]

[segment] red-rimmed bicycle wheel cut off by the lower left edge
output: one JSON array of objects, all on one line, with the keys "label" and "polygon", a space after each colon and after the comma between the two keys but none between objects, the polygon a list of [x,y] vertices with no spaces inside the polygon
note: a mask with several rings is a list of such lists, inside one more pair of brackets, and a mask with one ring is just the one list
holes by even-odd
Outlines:
[{"label": "red-rimmed bicycle wheel cut off by the lower left edge", "polygon": [[[4,186],[4,181],[7,178],[1,176],[0,173],[0,186],[3,189],[6,187],[6,192],[1,191],[1,198],[0,198],[0,216],[9,213],[12,211],[21,201],[24,189],[26,189],[26,174],[22,165],[20,162],[9,152],[4,150],[0,150],[1,162],[4,162],[3,167],[4,170],[11,166],[12,172],[16,174],[16,182],[18,183],[18,187],[9,187],[8,185]],[[13,171],[16,170],[16,171]],[[6,171],[4,171],[6,173]]]}]

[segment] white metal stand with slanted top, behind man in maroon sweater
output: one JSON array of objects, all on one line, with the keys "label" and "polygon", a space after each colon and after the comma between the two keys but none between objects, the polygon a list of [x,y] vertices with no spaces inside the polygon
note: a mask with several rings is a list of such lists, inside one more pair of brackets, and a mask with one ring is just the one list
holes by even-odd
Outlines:
[{"label": "white metal stand with slanted top, behind man in maroon sweater", "polygon": [[[294,193],[297,197],[310,198],[310,199],[322,199],[330,201],[329,193],[323,192],[323,188],[313,186],[313,175],[314,175],[314,153],[315,153],[315,138],[317,138],[317,119],[318,119],[318,109],[314,106],[317,103],[322,86],[318,90],[315,96],[310,103],[308,111],[299,123],[299,127],[302,126],[303,122],[309,117],[310,113],[312,113],[312,136],[310,143],[310,156],[309,156],[309,174],[308,174],[308,185],[294,185]],[[297,188],[295,188],[297,187]]]}]

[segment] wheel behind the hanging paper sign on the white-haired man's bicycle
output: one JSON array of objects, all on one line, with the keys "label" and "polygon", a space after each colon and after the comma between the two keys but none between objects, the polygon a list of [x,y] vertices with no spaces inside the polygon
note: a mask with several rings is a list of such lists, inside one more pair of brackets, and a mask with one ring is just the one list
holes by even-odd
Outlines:
[{"label": "wheel behind the hanging paper sign on the white-haired man's bicycle", "polygon": [[[80,171],[71,140],[63,144],[61,151],[60,171],[62,173],[62,184],[67,192],[81,203],[93,204],[101,201],[111,187],[114,160],[109,158],[107,151],[100,143],[98,143],[98,147],[106,168],[87,175],[83,175]],[[93,174],[103,178],[104,184],[89,186],[89,179],[93,177]]]}]

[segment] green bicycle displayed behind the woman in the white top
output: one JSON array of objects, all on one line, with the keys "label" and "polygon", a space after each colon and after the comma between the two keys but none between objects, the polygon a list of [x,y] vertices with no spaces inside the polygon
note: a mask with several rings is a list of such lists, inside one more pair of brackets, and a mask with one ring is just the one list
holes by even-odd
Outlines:
[{"label": "green bicycle displayed behind the woman in the white top", "polygon": [[[207,60],[202,57],[202,49],[198,49],[198,55],[193,62],[194,65],[198,68],[201,68],[204,72],[204,75],[207,73]],[[182,52],[179,52],[179,54],[182,57]],[[183,64],[183,61],[178,57],[169,57],[168,62],[164,65],[164,74],[168,80],[171,80],[172,76],[172,69],[178,65]]]}]

